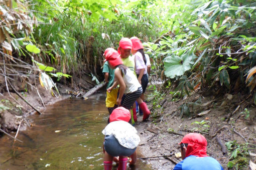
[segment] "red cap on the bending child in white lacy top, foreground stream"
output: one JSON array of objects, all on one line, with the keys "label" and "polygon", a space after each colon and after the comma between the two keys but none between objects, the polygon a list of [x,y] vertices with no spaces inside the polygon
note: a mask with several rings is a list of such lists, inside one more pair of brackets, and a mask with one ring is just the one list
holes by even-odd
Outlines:
[{"label": "red cap on the bending child in white lacy top, foreground stream", "polygon": [[124,107],[115,108],[109,116],[109,122],[120,120],[129,122],[130,119],[131,113],[128,109]]}]

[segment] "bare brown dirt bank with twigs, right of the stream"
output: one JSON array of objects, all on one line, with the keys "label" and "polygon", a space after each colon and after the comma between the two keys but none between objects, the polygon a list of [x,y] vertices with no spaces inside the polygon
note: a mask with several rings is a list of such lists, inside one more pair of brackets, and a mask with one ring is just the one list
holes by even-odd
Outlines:
[{"label": "bare brown dirt bank with twigs, right of the stream", "polygon": [[[152,108],[150,120],[141,122],[142,116],[139,116],[136,124],[142,140],[139,149],[143,155],[139,157],[148,160],[154,169],[172,169],[182,160],[175,156],[180,152],[177,143],[185,134],[194,131],[207,138],[208,155],[216,158],[224,169],[228,169],[227,163],[236,148],[239,151],[236,152],[233,163],[237,165],[237,169],[249,169],[249,160],[255,163],[256,114],[255,107],[249,102],[252,101],[251,98],[246,99],[245,96],[226,94],[215,98],[194,93],[177,101],[172,99],[172,95],[151,99],[148,103]],[[184,110],[188,106],[190,113],[185,115],[184,111],[180,118],[180,106],[185,106]],[[248,118],[245,117],[244,108],[249,110]],[[232,150],[227,150],[226,142],[234,143],[230,143]],[[244,166],[238,167],[239,163]],[[233,169],[236,169],[235,165]]]}]

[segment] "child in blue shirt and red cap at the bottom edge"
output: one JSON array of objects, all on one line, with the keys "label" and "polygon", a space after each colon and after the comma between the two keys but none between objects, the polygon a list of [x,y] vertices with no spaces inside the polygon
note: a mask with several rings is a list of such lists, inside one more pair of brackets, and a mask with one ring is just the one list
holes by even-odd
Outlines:
[{"label": "child in blue shirt and red cap at the bottom edge", "polygon": [[183,160],[173,170],[223,170],[216,159],[207,155],[207,140],[203,135],[186,134],[179,144]]}]

